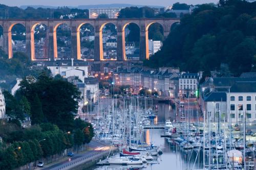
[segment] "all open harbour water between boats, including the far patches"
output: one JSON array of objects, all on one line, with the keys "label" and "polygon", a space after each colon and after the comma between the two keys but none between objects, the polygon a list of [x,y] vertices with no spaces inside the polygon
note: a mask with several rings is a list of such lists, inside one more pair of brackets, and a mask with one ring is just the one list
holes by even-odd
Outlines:
[{"label": "all open harbour water between boats, including the far patches", "polygon": [[[175,119],[176,115],[172,107],[167,104],[158,104],[153,106],[154,109],[158,110],[157,119],[153,123],[161,124],[165,123],[166,119]],[[193,110],[193,109],[192,109]],[[196,111],[192,111],[195,116]],[[185,170],[185,169],[199,169],[202,168],[203,164],[203,153],[202,151],[193,150],[193,151],[184,151],[179,148],[176,143],[170,143],[165,138],[161,138],[160,135],[164,134],[164,130],[161,129],[150,129],[145,130],[145,140],[150,140],[159,146],[163,151],[163,155],[159,156],[157,160],[152,163],[144,164],[143,168],[140,168],[140,165],[129,167],[129,166],[119,166],[119,165],[110,165],[110,166],[99,166],[93,167],[93,170],[116,170],[116,169],[151,169],[151,170],[160,170],[160,169],[175,169],[175,170]],[[197,157],[197,159],[196,159]]]}]

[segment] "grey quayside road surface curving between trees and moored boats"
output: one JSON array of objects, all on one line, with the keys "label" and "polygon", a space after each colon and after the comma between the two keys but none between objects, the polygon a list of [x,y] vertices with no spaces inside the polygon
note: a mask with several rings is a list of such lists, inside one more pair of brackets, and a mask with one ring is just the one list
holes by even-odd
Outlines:
[{"label": "grey quayside road surface curving between trees and moored boats", "polygon": [[110,149],[110,146],[106,146],[103,143],[98,143],[95,141],[91,141],[89,144],[89,149],[82,153],[74,152],[75,156],[73,157],[64,157],[56,162],[51,162],[46,164],[44,167],[37,167],[36,170],[56,170],[56,169],[67,169],[68,166],[76,165],[77,163],[87,162],[87,159],[96,157],[103,151],[106,152]]}]

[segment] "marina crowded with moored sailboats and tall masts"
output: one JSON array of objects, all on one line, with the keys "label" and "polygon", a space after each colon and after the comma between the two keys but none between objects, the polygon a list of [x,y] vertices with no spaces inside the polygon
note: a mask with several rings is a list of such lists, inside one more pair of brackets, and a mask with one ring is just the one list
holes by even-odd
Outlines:
[{"label": "marina crowded with moored sailboats and tall masts", "polygon": [[[94,116],[95,138],[117,150],[92,169],[160,169],[168,167],[170,160],[176,160],[175,169],[254,169],[255,137],[243,129],[238,132],[229,130],[234,125],[211,123],[198,113],[195,103],[172,108],[140,102],[114,99],[105,107],[109,111]],[[102,117],[106,123],[101,123]]]}]

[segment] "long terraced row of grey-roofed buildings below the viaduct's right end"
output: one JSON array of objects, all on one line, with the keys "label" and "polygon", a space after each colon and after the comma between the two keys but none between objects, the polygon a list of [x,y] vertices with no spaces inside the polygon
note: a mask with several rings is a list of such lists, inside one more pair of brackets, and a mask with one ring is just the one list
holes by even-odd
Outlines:
[{"label": "long terraced row of grey-roofed buildings below the viaduct's right end", "polygon": [[179,70],[159,68],[158,70],[143,70],[141,67],[119,69],[114,74],[116,85],[130,85],[133,92],[139,90],[155,90],[160,96],[175,97],[178,91]]}]

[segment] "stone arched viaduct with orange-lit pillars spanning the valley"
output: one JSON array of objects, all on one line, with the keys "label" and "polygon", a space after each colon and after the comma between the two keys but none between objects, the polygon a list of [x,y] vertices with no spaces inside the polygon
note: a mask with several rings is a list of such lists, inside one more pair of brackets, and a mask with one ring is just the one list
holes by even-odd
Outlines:
[{"label": "stone arched viaduct with orange-lit pillars spanning the valley", "polygon": [[37,25],[47,26],[47,57],[53,60],[57,54],[56,30],[59,25],[65,23],[71,30],[71,58],[81,59],[80,54],[80,28],[88,23],[94,27],[94,61],[103,61],[102,29],[106,23],[113,23],[117,27],[117,61],[126,60],[124,29],[129,23],[135,23],[140,29],[140,60],[148,59],[148,28],[152,23],[159,23],[163,27],[164,38],[170,32],[170,28],[177,18],[141,18],[141,19],[2,19],[0,26],[4,30],[4,51],[12,58],[12,27],[21,24],[26,28],[26,51],[31,60],[35,58],[34,29]]}]

